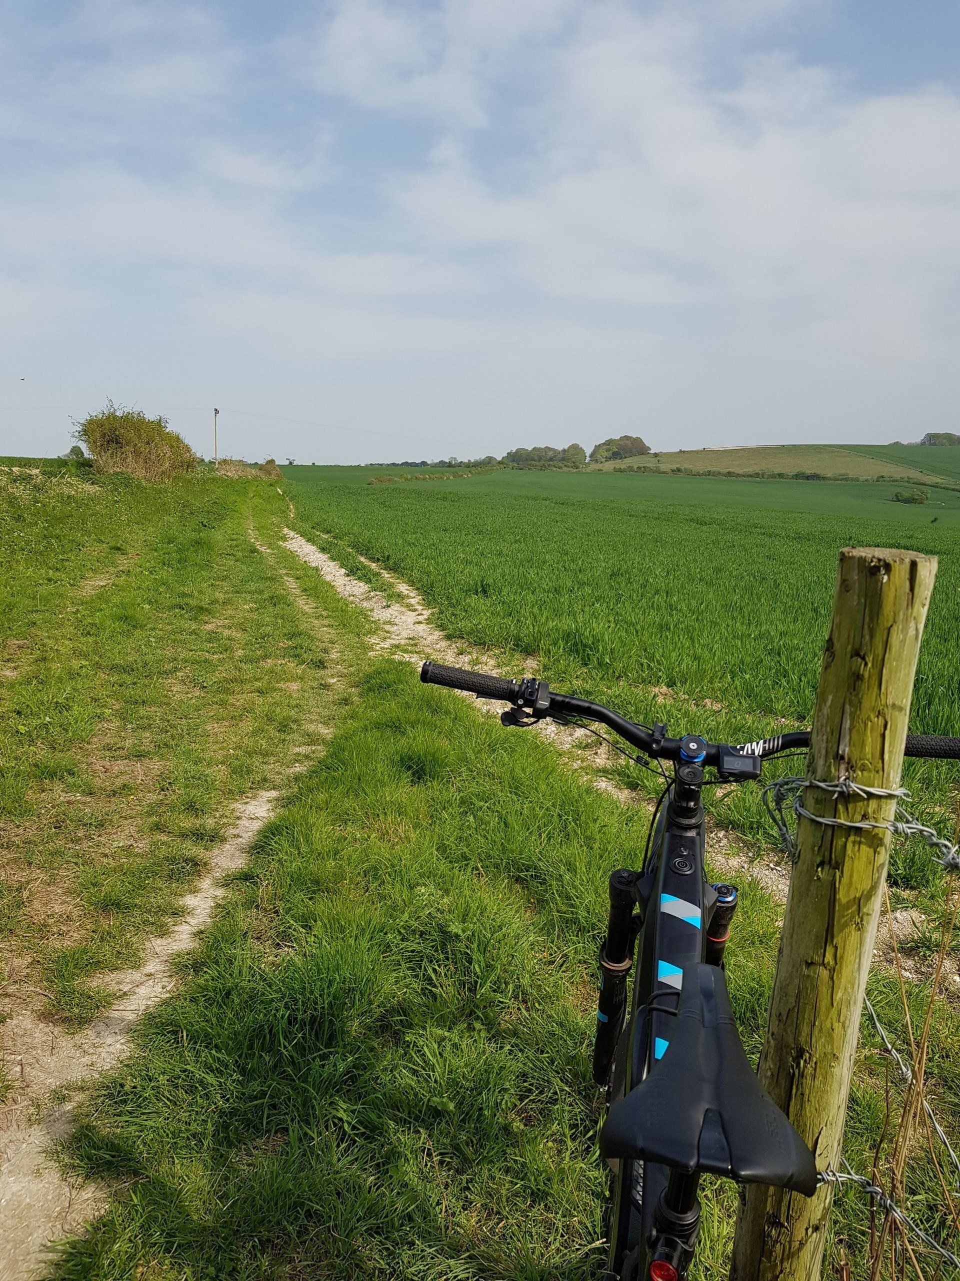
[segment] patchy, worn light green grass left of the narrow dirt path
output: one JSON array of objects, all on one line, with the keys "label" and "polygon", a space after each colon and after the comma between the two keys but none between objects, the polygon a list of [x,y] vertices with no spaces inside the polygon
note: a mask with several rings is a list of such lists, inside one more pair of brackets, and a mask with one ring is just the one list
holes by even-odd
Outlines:
[{"label": "patchy, worn light green grass left of the narrow dirt path", "polygon": [[273,487],[40,475],[0,497],[0,981],[82,1021],[232,802],[311,740],[324,655],[248,537]]}]

